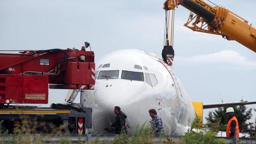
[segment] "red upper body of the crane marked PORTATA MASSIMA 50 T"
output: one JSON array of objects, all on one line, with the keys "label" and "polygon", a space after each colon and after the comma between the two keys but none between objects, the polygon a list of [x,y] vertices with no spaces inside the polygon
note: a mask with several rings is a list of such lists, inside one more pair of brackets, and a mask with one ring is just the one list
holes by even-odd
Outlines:
[{"label": "red upper body of the crane marked PORTATA MASSIMA 50 T", "polygon": [[93,89],[94,52],[77,49],[29,50],[0,54],[0,104],[48,103],[55,89]]}]

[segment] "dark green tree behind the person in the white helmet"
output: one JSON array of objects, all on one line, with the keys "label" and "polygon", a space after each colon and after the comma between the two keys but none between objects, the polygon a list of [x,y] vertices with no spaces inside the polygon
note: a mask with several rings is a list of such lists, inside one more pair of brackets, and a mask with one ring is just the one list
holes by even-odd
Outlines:
[{"label": "dark green tree behind the person in the white helmet", "polygon": [[[243,99],[241,99],[241,102]],[[230,106],[229,106],[230,107]],[[210,111],[208,113],[208,120],[211,122],[216,122],[218,118],[221,120],[221,124],[226,125],[229,119],[226,117],[226,109],[228,107],[220,107],[217,110]],[[250,120],[252,115],[252,108],[249,108],[247,111],[247,107],[245,105],[240,106],[232,106],[235,111],[235,116],[238,120],[239,127],[241,126],[242,129],[247,129],[248,123],[246,123],[247,120]],[[223,129],[223,131],[226,131]]]}]

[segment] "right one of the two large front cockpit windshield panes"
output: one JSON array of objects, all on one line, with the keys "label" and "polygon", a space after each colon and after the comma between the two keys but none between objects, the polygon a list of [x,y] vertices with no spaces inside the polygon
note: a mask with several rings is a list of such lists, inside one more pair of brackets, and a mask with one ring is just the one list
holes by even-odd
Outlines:
[{"label": "right one of the two large front cockpit windshield panes", "polygon": [[121,79],[129,79],[134,81],[144,81],[143,72],[131,72],[131,71],[122,71]]}]

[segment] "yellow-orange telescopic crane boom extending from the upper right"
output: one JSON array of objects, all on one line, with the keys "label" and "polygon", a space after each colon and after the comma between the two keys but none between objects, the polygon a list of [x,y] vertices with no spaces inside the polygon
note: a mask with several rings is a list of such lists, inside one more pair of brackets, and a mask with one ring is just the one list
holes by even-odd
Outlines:
[{"label": "yellow-orange telescopic crane boom extending from the upper right", "polygon": [[[203,0],[166,0],[163,9],[174,10],[178,5],[191,11],[184,26],[193,31],[222,35],[256,52],[256,29],[247,20],[224,7],[213,7]],[[193,16],[192,12],[196,15]]]}]

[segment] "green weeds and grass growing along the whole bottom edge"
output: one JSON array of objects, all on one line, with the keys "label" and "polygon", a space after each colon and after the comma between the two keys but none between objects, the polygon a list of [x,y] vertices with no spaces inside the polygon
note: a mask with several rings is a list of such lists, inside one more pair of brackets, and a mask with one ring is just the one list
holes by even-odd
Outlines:
[{"label": "green weeds and grass growing along the whole bottom edge", "polygon": [[[191,128],[185,133],[184,137],[181,137],[179,141],[173,141],[171,137],[164,136],[163,134],[157,139],[151,131],[149,123],[144,123],[143,125],[137,125],[135,129],[131,130],[132,135],[128,136],[124,131],[120,135],[116,135],[113,140],[106,139],[100,140],[99,136],[93,139],[91,142],[85,142],[82,138],[82,135],[79,135],[79,144],[220,144],[226,143],[224,139],[214,138],[219,131],[222,129],[220,125],[220,120],[217,120],[215,123],[208,122],[209,129],[198,129],[202,123],[198,123],[200,118],[195,118]],[[0,122],[2,124],[3,121]],[[2,132],[3,139],[0,140],[0,144],[43,144],[44,140],[39,138],[35,141],[31,138],[26,132],[26,129],[21,129],[19,126],[14,129],[14,134],[8,134],[8,131],[3,132],[0,125],[0,131]],[[28,130],[26,130],[28,131]],[[54,142],[53,142],[54,143]],[[71,144],[69,136],[65,136],[60,139],[59,143],[61,144]]]}]

